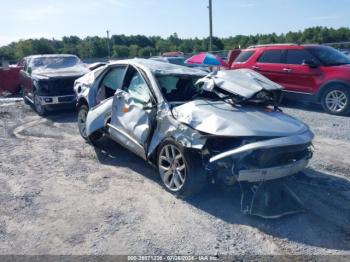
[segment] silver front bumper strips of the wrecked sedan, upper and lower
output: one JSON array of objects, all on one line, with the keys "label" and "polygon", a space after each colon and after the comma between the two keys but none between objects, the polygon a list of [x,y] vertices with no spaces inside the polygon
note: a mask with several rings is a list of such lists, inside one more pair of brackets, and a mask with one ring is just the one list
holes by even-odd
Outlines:
[{"label": "silver front bumper strips of the wrecked sedan, upper and lower", "polygon": [[[313,138],[314,138],[314,134],[310,130],[307,130],[303,133],[296,134],[293,136],[258,141],[258,142],[246,144],[241,147],[234,148],[232,150],[215,155],[209,159],[209,162],[215,163],[225,158],[239,159],[241,155],[249,154],[251,152],[254,152],[255,150],[260,150],[260,149],[275,148],[276,150],[278,150],[279,148],[288,147],[288,146],[298,146],[298,145],[302,146],[305,144],[311,145]],[[308,155],[305,155],[300,159],[296,159],[291,163],[284,163],[284,164],[281,163],[281,165],[275,165],[275,166],[272,166],[272,167],[270,166],[266,168],[243,169],[243,170],[239,170],[237,173],[232,175],[236,175],[238,181],[246,181],[246,182],[259,182],[259,181],[278,179],[278,178],[290,176],[302,171],[308,165],[309,159],[311,157],[312,157],[312,152],[310,151]]]}]

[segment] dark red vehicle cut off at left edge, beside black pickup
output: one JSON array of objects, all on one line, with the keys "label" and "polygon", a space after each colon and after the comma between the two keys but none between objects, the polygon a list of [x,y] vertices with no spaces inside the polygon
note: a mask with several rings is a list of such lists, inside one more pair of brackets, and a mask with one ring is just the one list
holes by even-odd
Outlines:
[{"label": "dark red vehicle cut off at left edge, beside black pickup", "polygon": [[6,63],[0,66],[0,95],[3,92],[15,94],[20,89],[20,65],[8,65]]}]

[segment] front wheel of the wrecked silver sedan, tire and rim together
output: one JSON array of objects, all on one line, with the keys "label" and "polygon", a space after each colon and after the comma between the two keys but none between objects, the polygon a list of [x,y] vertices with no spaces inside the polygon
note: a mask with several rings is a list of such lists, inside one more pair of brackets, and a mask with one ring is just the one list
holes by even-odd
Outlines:
[{"label": "front wheel of the wrecked silver sedan, tire and rim together", "polygon": [[170,139],[158,148],[157,167],[164,188],[181,198],[198,193],[207,181],[200,156]]}]

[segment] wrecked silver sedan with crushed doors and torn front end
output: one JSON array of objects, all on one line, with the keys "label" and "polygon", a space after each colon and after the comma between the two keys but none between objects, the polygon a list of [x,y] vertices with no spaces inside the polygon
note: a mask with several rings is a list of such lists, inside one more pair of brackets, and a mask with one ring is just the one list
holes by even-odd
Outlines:
[{"label": "wrecked silver sedan with crushed doors and torn front end", "polygon": [[198,192],[298,173],[313,133],[278,109],[281,86],[249,70],[209,74],[145,59],[110,63],[75,82],[78,127],[157,167],[166,190]]}]

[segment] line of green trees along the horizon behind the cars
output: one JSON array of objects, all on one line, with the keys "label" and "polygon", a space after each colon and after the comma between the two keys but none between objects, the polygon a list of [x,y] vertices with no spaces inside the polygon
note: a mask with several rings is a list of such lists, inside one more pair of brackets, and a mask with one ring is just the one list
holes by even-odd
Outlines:
[{"label": "line of green trees along the horizon behind the cars", "polygon": [[[342,27],[333,29],[328,27],[311,27],[303,31],[288,32],[286,34],[256,34],[236,35],[226,38],[213,38],[213,51],[245,48],[256,44],[270,43],[330,43],[350,41],[350,29]],[[181,39],[176,33],[167,38],[144,35],[112,35],[106,37],[77,36],[57,39],[27,39],[12,42],[0,47],[0,59],[18,60],[32,54],[69,53],[78,55],[82,59],[89,58],[128,58],[149,57],[168,51],[197,53],[207,51],[208,38]],[[341,46],[340,46],[341,47]],[[346,47],[346,46],[344,46]],[[349,47],[349,46],[347,46]]]}]

